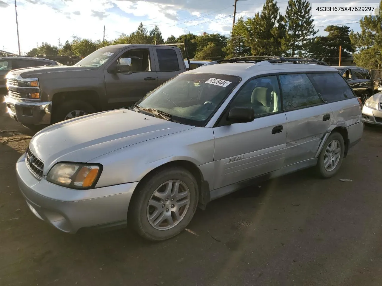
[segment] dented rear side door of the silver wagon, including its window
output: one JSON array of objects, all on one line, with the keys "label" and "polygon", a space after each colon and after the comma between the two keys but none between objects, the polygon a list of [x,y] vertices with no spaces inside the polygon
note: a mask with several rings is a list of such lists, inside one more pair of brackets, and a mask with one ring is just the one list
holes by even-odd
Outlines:
[{"label": "dented rear side door of the silver wagon, including its window", "polygon": [[279,76],[283,109],[288,122],[284,166],[314,158],[333,112],[306,74]]}]

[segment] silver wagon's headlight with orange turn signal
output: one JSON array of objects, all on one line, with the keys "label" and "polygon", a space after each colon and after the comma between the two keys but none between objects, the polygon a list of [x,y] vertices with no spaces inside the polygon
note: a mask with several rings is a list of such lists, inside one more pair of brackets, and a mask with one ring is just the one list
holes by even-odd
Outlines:
[{"label": "silver wagon's headlight with orange turn signal", "polygon": [[50,169],[47,181],[73,189],[94,187],[101,174],[102,166],[97,164],[57,163]]}]

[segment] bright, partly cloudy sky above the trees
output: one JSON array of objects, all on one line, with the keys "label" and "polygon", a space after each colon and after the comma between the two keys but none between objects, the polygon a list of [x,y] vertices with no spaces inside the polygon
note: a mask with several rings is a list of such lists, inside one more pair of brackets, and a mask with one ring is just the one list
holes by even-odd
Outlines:
[{"label": "bright, partly cloudy sky above the trees", "polygon": [[[121,33],[134,32],[143,22],[148,30],[158,25],[163,38],[188,32],[203,32],[229,36],[233,21],[234,0],[17,0],[18,26],[21,54],[48,42],[58,46],[71,41],[72,36],[83,39],[116,39]],[[236,19],[252,17],[261,11],[265,0],[238,0]],[[314,1],[333,3],[328,0]],[[349,3],[336,0],[336,3]],[[351,3],[363,3],[356,0]],[[367,0],[368,3],[377,2]],[[285,13],[287,0],[277,1],[280,12]],[[1,37],[0,50],[18,53],[15,1],[0,0]],[[348,24],[360,31],[362,16],[314,16],[318,35],[326,35],[325,26]],[[356,22],[356,23],[352,23]],[[323,26],[323,27],[322,27]]]}]

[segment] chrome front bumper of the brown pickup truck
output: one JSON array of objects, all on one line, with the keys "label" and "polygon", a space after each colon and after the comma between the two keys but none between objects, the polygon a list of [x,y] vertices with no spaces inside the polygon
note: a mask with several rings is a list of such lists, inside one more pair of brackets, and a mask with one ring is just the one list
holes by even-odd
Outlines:
[{"label": "chrome front bumper of the brown pickup truck", "polygon": [[27,101],[5,96],[7,112],[21,124],[49,125],[52,101]]}]

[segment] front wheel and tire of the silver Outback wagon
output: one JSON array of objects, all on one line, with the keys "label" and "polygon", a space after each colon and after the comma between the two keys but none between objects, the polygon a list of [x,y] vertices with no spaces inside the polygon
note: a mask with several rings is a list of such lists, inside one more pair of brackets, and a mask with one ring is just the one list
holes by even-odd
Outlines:
[{"label": "front wheel and tire of the silver Outback wagon", "polygon": [[[167,196],[166,188],[170,183],[166,182],[171,180],[175,180],[172,182],[172,192],[176,189],[176,183],[179,182],[181,193],[176,192]],[[185,192],[188,196],[184,195]],[[176,196],[178,198],[183,196],[183,198],[178,199]],[[151,241],[169,239],[183,231],[191,221],[196,211],[198,198],[197,182],[188,170],[179,167],[158,170],[141,182],[138,189],[134,191],[129,205],[128,220],[134,230],[145,239]],[[188,206],[181,206],[187,199]],[[176,207],[174,202],[181,207]],[[175,219],[176,210],[178,210],[179,220]],[[169,219],[163,219],[165,217],[172,220],[172,226]],[[154,226],[155,223],[157,224]]]}]

